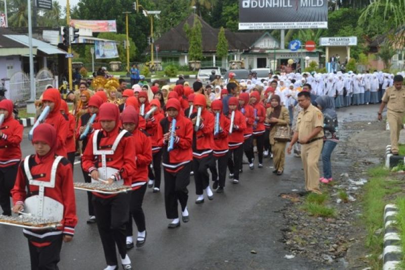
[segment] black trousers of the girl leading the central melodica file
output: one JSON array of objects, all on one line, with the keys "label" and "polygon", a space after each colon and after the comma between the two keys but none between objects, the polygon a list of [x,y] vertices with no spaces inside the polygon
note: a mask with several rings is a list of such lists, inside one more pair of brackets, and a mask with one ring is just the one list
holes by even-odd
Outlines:
[{"label": "black trousers of the girl leading the central melodica file", "polygon": [[178,202],[182,211],[186,209],[191,166],[192,162],[189,162],[176,173],[164,170],[166,217],[169,219],[179,218]]}]

